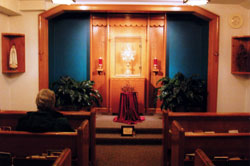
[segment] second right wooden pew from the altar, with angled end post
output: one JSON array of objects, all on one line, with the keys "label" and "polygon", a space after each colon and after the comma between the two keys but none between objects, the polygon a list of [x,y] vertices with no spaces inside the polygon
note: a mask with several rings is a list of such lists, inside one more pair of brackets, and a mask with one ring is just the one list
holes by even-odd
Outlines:
[{"label": "second right wooden pew from the altar, with angled end post", "polygon": [[173,121],[171,131],[171,166],[183,166],[185,154],[197,148],[208,156],[250,158],[250,133],[185,132],[177,121]]}]

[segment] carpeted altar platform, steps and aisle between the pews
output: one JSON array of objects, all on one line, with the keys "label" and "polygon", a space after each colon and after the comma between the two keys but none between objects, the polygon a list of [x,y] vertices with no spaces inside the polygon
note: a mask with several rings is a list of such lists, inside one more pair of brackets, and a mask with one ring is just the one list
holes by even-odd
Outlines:
[{"label": "carpeted altar platform, steps and aisle between the pews", "polygon": [[[142,133],[131,138],[119,136],[121,126],[127,124],[113,122],[114,117],[102,114],[96,116],[97,166],[161,166],[161,114],[144,116],[145,121],[134,124],[136,131]],[[140,141],[144,143],[141,144]]]}]

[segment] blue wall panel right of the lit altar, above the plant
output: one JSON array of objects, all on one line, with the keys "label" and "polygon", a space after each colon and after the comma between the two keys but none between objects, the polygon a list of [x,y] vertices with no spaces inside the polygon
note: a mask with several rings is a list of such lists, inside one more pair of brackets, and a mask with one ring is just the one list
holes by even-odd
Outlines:
[{"label": "blue wall panel right of the lit altar, above the plant", "polygon": [[167,75],[181,72],[190,77],[198,74],[207,80],[208,67],[207,21],[189,14],[167,15]]}]

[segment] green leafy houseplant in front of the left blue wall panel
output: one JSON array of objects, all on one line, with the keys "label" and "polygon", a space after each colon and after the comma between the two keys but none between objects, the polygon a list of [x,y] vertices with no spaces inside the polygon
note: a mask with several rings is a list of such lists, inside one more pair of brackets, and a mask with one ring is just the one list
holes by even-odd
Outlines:
[{"label": "green leafy houseplant in front of the left blue wall panel", "polygon": [[102,96],[93,88],[94,81],[78,82],[69,76],[60,77],[52,84],[56,94],[56,107],[62,110],[90,109],[100,106]]}]

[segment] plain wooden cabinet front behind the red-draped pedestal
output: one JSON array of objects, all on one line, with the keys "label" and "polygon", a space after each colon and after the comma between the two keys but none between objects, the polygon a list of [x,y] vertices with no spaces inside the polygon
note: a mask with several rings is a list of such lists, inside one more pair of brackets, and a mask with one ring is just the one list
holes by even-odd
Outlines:
[{"label": "plain wooden cabinet front behind the red-draped pedestal", "polygon": [[110,105],[112,113],[119,112],[120,93],[122,87],[129,85],[134,88],[137,95],[139,113],[145,113],[145,78],[111,78]]}]

